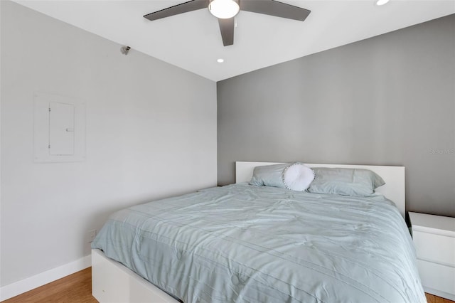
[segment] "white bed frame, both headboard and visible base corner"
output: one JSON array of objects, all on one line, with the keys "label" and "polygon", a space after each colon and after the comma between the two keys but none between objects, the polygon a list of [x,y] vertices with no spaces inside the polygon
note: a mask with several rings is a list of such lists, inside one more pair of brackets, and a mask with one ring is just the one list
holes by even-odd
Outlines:
[{"label": "white bed frame, both headboard and visible base corner", "polygon": [[[250,181],[256,166],[278,162],[235,162],[235,182]],[[385,185],[378,192],[394,201],[405,216],[405,167],[338,164],[306,164],[310,167],[370,169],[380,175]],[[146,281],[124,265],[109,259],[101,250],[92,250],[92,295],[100,303],[176,303],[178,300]]]}]

